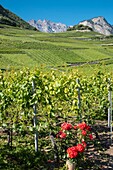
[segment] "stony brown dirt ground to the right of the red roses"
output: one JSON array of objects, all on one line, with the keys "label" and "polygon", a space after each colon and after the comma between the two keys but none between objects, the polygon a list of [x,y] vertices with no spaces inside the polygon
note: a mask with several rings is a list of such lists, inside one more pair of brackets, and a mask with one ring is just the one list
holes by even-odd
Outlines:
[{"label": "stony brown dirt ground to the right of the red roses", "polygon": [[[94,126],[98,130],[100,140],[100,151],[90,152],[93,155],[95,164],[100,170],[113,170],[113,133],[107,127],[107,122],[97,122]],[[95,169],[94,169],[95,170]]]}]

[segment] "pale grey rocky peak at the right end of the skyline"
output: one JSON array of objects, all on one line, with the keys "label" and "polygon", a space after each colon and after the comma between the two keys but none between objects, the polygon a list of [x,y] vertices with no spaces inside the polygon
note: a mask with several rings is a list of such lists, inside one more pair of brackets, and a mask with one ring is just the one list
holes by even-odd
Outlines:
[{"label": "pale grey rocky peak at the right end of the skyline", "polygon": [[92,28],[93,31],[104,34],[104,35],[113,34],[113,27],[106,21],[104,17],[101,17],[101,16],[79,22],[78,25],[88,26]]}]

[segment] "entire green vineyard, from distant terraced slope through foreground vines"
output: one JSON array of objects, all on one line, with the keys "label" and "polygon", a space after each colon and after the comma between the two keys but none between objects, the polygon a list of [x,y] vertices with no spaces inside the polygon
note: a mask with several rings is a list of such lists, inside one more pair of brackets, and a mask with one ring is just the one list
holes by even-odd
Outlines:
[{"label": "entire green vineyard, from distant terraced slope through foreground vines", "polygon": [[[69,66],[75,69],[66,70]],[[98,71],[98,67],[104,71]],[[67,139],[63,139],[59,125],[77,125],[81,120],[96,133],[92,133],[93,140],[86,141],[87,148],[82,144],[84,151],[87,149],[85,157],[79,157],[82,153],[77,151],[77,169],[113,167],[112,155],[106,154],[110,153],[106,120],[108,91],[113,90],[113,36],[75,31],[48,34],[0,25],[0,68],[6,69],[0,71],[0,169],[65,169],[67,147],[85,142],[86,135],[76,126],[80,141],[76,128],[72,129],[74,138],[66,132]],[[34,152],[37,132],[38,152]],[[57,162],[51,135],[56,137]]]}]

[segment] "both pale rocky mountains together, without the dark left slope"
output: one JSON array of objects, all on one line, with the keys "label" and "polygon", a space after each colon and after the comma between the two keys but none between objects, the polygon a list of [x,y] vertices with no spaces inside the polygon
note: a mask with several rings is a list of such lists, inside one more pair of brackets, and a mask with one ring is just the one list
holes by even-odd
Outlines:
[{"label": "both pale rocky mountains together, without the dark left slope", "polygon": [[62,23],[55,23],[48,20],[30,20],[28,22],[30,25],[35,27],[41,32],[57,33],[65,32],[71,30],[77,31],[94,31],[104,35],[113,34],[113,26],[111,26],[104,17],[95,17],[93,19],[84,20],[79,22],[79,24],[72,27],[68,27]]}]

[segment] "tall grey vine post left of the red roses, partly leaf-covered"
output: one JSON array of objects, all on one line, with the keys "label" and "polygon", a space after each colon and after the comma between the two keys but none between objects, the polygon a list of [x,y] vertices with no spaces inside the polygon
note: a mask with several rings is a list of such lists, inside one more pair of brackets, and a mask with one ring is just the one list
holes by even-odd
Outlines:
[{"label": "tall grey vine post left of the red roses, partly leaf-covered", "polygon": [[[35,83],[32,81],[32,89],[33,89],[33,94],[35,92]],[[38,130],[37,130],[37,110],[36,110],[36,104],[33,105],[33,113],[34,113],[34,129],[35,129],[35,152],[38,152]]]}]

